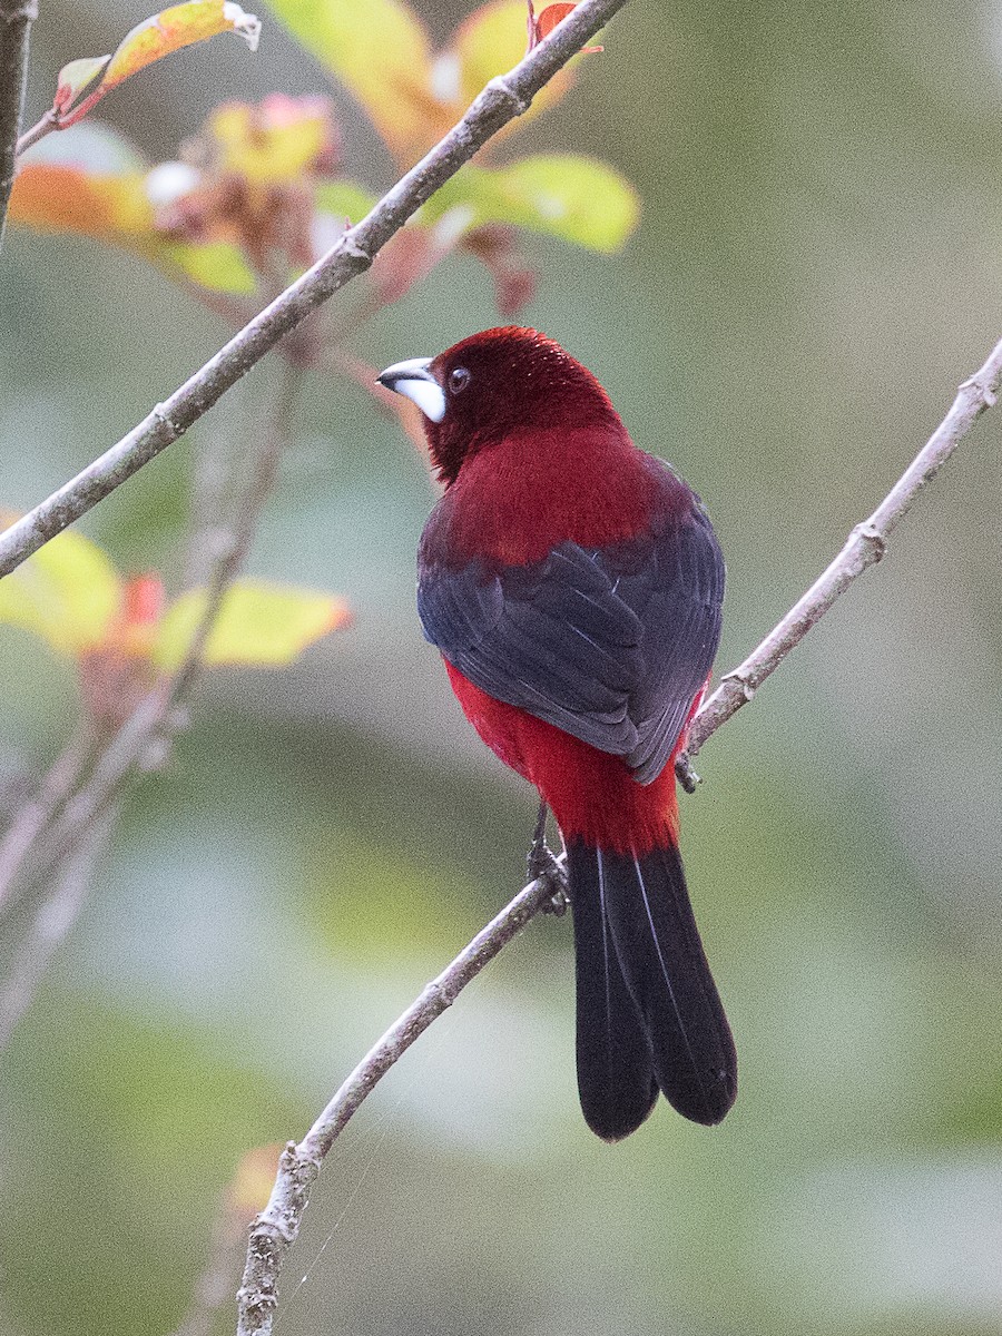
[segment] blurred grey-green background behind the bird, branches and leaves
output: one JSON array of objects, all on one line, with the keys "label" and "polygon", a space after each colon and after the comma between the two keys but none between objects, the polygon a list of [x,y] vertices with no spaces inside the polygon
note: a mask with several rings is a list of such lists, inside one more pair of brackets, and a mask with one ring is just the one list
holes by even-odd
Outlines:
[{"label": "blurred grey-green background behind the bird, branches and leaves", "polygon": [[[470,7],[421,8],[444,37]],[[61,63],[147,13],[41,9],[29,123]],[[195,48],[104,118],[164,158],[220,98],[325,90],[262,17],[257,57]],[[1002,7],[633,0],[604,43],[518,150],[608,159],[643,223],[613,258],[526,239],[542,279],[522,319],[704,497],[725,669],[1002,333]],[[339,107],[354,162],[387,184]],[[0,504],[27,508],[226,331],[87,242],[12,228],[1,263]],[[437,353],[496,323],[492,301],[453,259],[355,351]],[[239,433],[273,375],[192,437]],[[1001,437],[989,414],[683,800],[741,1062],[728,1120],[707,1132],[661,1105],[620,1146],[591,1136],[569,921],[540,921],[333,1152],[279,1332],[1002,1332]],[[120,565],[180,578],[192,448],[81,525]],[[202,692],[3,1058],[12,1336],[170,1332],[242,1153],[301,1136],[522,884],[532,795],[462,720],[413,608],[430,504],[397,425],[314,377],[250,569],[342,592],[357,623],[295,669]],[[41,767],[73,717],[69,671],[7,631],[0,684],[4,771]]]}]

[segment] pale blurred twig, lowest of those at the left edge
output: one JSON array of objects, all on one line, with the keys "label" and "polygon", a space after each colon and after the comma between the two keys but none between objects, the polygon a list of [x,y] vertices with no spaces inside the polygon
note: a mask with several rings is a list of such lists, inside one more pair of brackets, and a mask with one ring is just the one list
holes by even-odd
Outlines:
[{"label": "pale blurred twig, lowest of those at the left edge", "polygon": [[94,864],[104,851],[114,823],[114,812],[107,811],[90,827],[67,858],[55,887],[35,911],[0,986],[0,1051],[7,1047],[17,1022],[31,1006],[52,957],[83,908]]}]

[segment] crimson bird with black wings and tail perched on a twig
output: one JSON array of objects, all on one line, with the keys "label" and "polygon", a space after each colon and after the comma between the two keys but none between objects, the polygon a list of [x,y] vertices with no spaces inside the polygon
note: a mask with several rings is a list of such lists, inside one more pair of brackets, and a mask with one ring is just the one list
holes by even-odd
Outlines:
[{"label": "crimson bird with black wings and tail perched on a twig", "polygon": [[422,410],[444,486],[418,548],[425,637],[564,842],[585,1121],[620,1141],[660,1092],[719,1124],[737,1059],[689,904],[675,782],[720,637],[707,512],[536,330],[485,330],[378,381]]}]

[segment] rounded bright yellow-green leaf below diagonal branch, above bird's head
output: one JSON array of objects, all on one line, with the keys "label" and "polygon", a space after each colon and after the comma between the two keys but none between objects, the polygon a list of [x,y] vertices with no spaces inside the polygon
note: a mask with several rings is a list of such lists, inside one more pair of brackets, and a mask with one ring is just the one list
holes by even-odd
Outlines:
[{"label": "rounded bright yellow-green leaf below diagonal branch, above bird's head", "polygon": [[510,167],[464,167],[425,204],[421,220],[446,227],[458,220],[462,231],[514,223],[588,250],[615,251],[639,215],[636,191],[612,167],[576,154],[538,154]]}]

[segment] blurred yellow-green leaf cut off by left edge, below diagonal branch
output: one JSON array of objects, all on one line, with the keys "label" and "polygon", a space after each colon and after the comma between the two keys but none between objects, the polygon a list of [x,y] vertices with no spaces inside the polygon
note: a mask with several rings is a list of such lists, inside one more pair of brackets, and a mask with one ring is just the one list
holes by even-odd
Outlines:
[{"label": "blurred yellow-green leaf cut off by left edge, below diagonal branch", "polygon": [[77,655],[104,643],[120,596],[122,581],[102,549],[67,530],[0,580],[0,623]]}]

